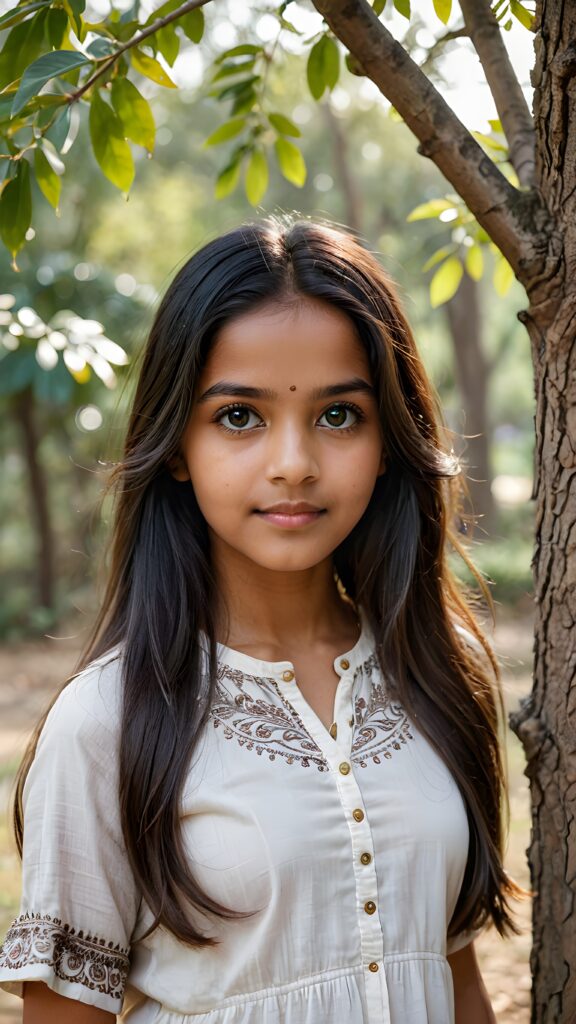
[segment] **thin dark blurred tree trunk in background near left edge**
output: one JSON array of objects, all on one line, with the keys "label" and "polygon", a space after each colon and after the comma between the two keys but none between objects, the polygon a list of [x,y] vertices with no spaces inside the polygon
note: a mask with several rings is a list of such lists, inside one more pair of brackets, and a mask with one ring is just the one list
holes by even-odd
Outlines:
[{"label": "thin dark blurred tree trunk in background near left edge", "polygon": [[54,541],[48,508],[48,486],[39,457],[34,394],[31,388],[13,401],[14,417],[20,427],[28,466],[32,514],[38,538],[38,599],[45,608],[54,607]]}]

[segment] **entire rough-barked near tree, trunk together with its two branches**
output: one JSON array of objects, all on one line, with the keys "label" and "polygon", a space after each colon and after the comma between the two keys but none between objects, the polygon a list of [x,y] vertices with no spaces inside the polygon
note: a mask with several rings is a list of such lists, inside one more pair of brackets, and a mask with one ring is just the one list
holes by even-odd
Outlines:
[{"label": "entire rough-barked near tree, trunk together with its two branches", "polygon": [[[509,724],[526,754],[532,1024],[576,1024],[576,3],[537,0],[534,118],[489,0],[460,0],[528,187],[484,154],[367,0],[314,0],[510,262],[529,307],[536,395],[534,686]],[[494,54],[499,54],[495,62]],[[535,161],[532,154],[535,152]]]}]

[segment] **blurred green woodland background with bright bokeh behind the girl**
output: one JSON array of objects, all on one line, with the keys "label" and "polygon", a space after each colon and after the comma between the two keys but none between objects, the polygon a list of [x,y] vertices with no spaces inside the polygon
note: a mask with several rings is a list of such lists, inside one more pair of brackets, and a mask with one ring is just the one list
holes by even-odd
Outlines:
[{"label": "blurred green woodland background with bright bokeh behind the girl", "polygon": [[[101,4],[105,11],[106,0]],[[223,5],[202,51],[178,58],[171,72],[177,91],[148,83],[159,126],[157,144],[152,160],[135,148],[136,181],[129,200],[101,176],[90,147],[81,141],[85,125],[79,125],[80,141],[66,158],[60,215],[39,200],[17,272],[0,253],[2,934],[17,913],[19,887],[4,808],[32,725],[73,670],[97,607],[110,518],[110,504],[100,504],[100,498],[120,452],[138,351],[159,296],[191,252],[254,216],[241,188],[224,202],[213,199],[225,147],[203,145],[221,117],[204,84],[205,67],[211,48],[216,52],[242,41],[246,6]],[[421,17],[413,18],[408,30],[416,56],[429,45],[428,6],[421,4]],[[250,16],[256,16],[253,10]],[[256,29],[265,40],[265,15]],[[400,26],[399,32],[406,31]],[[508,35],[529,92],[530,35],[521,27]],[[469,52],[466,62],[459,43],[436,60],[435,81],[469,127],[486,131],[486,119],[496,115],[479,84],[480,72]],[[454,298],[433,309],[430,272],[422,267],[441,246],[457,241],[457,228],[449,217],[407,220],[418,204],[447,189],[433,164],[417,154],[410,132],[370,83],[351,75],[329,100],[314,102],[297,46],[271,69],[271,88],[278,110],[302,132],[308,173],[301,189],[273,174],[256,214],[297,210],[346,224],[380,254],[398,283],[451,443],[467,466],[468,512],[477,521],[461,540],[495,601],[494,632],[490,616],[481,613],[500,655],[504,700],[511,711],[531,686],[533,383],[528,337],[517,319],[526,304],[524,293],[515,282],[499,294],[488,265],[481,281],[465,275]],[[99,330],[92,322],[101,325],[100,337],[121,347],[125,365],[111,360],[113,373],[100,366],[99,374],[74,359],[56,368],[43,365],[35,331],[40,336],[45,325],[57,329],[58,318],[72,314],[87,341]],[[469,582],[464,568],[458,571]],[[529,886],[523,753],[505,724],[502,735],[511,812],[506,867]],[[522,935],[502,941],[489,931],[477,944],[495,1012],[505,1024],[529,1020],[529,901],[518,906],[518,921]],[[17,1000],[0,995],[0,1024],[18,1021],[19,1014]]]}]

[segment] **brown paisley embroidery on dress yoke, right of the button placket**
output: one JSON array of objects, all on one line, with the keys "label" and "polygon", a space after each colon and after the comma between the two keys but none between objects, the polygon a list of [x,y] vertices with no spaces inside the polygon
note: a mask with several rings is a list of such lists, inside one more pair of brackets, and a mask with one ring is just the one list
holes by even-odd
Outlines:
[{"label": "brown paisley embroidery on dress yoke, right of the button placket", "polygon": [[[390,699],[377,671],[377,659],[373,654],[362,667],[370,684],[368,699],[355,699],[355,733],[351,760],[360,768],[366,768],[368,761],[380,764],[382,758],[389,759],[394,751],[400,751],[407,740],[414,739],[410,731],[412,724],[402,705]],[[377,681],[372,679],[376,672]]]}]

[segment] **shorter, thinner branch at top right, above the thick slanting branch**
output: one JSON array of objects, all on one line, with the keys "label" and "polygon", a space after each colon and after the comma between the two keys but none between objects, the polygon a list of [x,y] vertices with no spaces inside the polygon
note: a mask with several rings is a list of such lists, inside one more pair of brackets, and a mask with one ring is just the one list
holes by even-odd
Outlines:
[{"label": "shorter, thinner branch at top right, above the thick slanting branch", "polygon": [[536,170],[534,122],[511,66],[500,26],[492,13],[489,0],[460,0],[460,8],[508,140],[510,163],[520,183],[532,187]]}]

